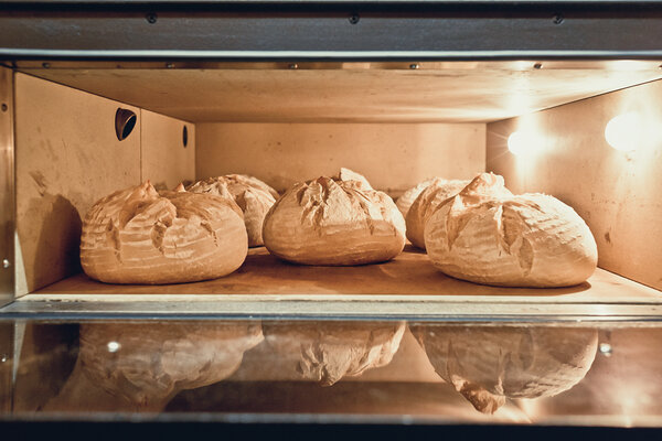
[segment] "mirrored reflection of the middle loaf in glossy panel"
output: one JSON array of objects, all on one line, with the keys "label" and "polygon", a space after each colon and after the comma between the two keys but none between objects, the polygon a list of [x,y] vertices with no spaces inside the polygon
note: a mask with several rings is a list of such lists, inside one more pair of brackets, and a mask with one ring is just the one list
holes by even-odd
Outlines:
[{"label": "mirrored reflection of the middle loaf in glossy panel", "polygon": [[331,386],[342,377],[386,366],[399,347],[405,322],[316,322],[264,326],[281,357],[295,357],[302,378]]}]

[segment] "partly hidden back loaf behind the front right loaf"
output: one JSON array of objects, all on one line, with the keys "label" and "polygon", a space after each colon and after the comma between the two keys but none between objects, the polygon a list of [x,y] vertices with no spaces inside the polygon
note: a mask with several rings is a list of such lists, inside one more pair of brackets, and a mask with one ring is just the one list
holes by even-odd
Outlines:
[{"label": "partly hidden back loaf behind the front right loaf", "polygon": [[407,239],[409,239],[412,245],[425,249],[425,223],[444,201],[458,194],[469,184],[469,182],[471,181],[435,178],[435,180],[420,192],[405,216]]}]

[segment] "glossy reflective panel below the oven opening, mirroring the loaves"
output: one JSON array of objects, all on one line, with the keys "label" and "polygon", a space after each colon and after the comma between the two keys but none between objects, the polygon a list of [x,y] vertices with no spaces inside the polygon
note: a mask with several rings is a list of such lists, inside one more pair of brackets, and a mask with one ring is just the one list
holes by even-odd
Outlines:
[{"label": "glossy reflective panel below the oven opening, mirroring the loaves", "polygon": [[14,379],[0,387],[11,407],[0,415],[662,421],[659,325],[210,320],[15,331],[17,351],[2,364]]}]

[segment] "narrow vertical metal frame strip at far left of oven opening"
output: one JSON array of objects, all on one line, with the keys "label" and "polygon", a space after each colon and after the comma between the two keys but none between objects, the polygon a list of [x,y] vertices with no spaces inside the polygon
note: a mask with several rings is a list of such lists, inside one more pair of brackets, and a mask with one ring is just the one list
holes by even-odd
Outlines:
[{"label": "narrow vertical metal frame strip at far left of oven opening", "polygon": [[0,67],[0,305],[14,298],[13,72]]}]

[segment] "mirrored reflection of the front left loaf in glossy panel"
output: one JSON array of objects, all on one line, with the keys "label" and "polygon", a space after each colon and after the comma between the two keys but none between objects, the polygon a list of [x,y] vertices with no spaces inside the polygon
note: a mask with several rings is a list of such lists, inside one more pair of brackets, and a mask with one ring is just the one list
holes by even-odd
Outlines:
[{"label": "mirrored reflection of the front left loaf in glossy panel", "polygon": [[261,340],[250,322],[88,323],[78,362],[96,386],[147,407],[229,377]]}]

